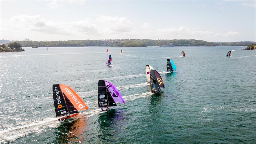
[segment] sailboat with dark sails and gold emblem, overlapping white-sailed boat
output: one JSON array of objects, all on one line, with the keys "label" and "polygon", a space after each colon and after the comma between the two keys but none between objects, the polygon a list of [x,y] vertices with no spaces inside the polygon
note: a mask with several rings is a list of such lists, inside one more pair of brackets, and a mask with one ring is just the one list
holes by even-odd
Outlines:
[{"label": "sailboat with dark sails and gold emblem, overlapping white-sailed boat", "polygon": [[150,84],[151,84],[152,93],[160,92],[161,91],[160,87],[164,88],[164,82],[162,77],[154,69],[150,70]]}]

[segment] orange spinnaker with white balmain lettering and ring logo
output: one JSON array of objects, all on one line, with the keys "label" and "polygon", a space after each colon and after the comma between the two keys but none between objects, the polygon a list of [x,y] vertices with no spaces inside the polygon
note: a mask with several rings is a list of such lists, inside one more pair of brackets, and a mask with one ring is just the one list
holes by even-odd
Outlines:
[{"label": "orange spinnaker with white balmain lettering and ring logo", "polygon": [[61,92],[63,92],[66,95],[68,100],[73,104],[73,106],[77,110],[88,109],[84,104],[83,100],[81,100],[81,98],[76,94],[76,92],[74,92],[70,87],[63,84],[59,84],[59,85],[60,85]]}]

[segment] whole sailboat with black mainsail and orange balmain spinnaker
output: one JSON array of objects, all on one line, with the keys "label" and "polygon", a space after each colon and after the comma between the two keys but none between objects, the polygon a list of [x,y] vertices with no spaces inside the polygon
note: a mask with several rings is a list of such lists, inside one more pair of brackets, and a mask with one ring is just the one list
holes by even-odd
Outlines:
[{"label": "whole sailboat with black mainsail and orange balmain spinnaker", "polygon": [[88,109],[76,92],[66,85],[53,84],[52,93],[56,117],[59,117],[60,123],[77,116],[78,110]]}]

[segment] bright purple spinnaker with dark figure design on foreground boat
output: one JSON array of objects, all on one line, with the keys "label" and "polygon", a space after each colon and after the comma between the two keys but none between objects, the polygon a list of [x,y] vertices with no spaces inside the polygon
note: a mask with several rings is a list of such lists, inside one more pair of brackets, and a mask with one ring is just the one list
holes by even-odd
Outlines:
[{"label": "bright purple spinnaker with dark figure design on foreground boat", "polygon": [[105,85],[115,102],[124,103],[124,100],[123,100],[121,94],[116,89],[115,85],[110,84],[107,81],[105,81]]}]

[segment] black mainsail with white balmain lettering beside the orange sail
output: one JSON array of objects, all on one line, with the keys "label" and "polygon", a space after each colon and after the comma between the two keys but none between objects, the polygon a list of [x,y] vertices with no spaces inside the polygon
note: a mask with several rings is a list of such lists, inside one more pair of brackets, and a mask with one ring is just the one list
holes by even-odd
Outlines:
[{"label": "black mainsail with white balmain lettering beside the orange sail", "polygon": [[67,115],[68,108],[64,96],[60,90],[59,84],[52,85],[52,94],[56,117]]}]

